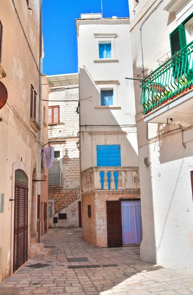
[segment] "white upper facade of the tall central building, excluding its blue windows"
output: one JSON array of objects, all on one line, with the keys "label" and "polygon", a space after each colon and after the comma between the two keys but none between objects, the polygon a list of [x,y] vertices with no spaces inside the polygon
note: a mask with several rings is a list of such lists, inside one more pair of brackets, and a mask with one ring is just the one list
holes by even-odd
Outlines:
[{"label": "white upper facade of the tall central building, excluding its blue windows", "polygon": [[[76,25],[81,171],[96,166],[96,145],[104,144],[121,144],[122,166],[138,166],[133,83],[125,79],[132,76],[129,19],[81,19]],[[100,42],[111,42],[111,59],[99,59]],[[101,106],[103,89],[113,89],[112,106]]]}]

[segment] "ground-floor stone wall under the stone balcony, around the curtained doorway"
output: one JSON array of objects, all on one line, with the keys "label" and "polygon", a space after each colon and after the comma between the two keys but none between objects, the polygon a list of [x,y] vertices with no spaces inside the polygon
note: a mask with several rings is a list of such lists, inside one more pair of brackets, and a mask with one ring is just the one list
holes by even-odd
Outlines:
[{"label": "ground-floor stone wall under the stone balcony, around the curtained doorway", "polygon": [[[117,193],[99,192],[93,195],[84,195],[82,202],[85,241],[97,247],[107,247],[106,201],[139,198],[139,190],[130,193],[118,191]],[[91,217],[88,217],[88,205],[91,205]]]}]

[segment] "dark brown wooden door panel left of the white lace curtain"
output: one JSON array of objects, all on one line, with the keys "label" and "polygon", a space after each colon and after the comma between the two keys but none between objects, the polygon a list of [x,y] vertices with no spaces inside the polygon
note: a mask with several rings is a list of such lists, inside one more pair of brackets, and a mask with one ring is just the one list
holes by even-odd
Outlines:
[{"label": "dark brown wooden door panel left of the white lace curtain", "polygon": [[106,201],[108,247],[122,247],[121,202]]}]

